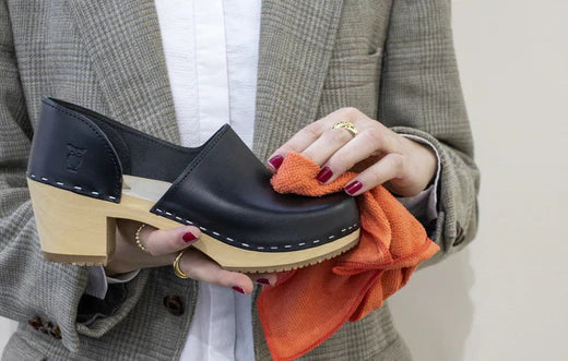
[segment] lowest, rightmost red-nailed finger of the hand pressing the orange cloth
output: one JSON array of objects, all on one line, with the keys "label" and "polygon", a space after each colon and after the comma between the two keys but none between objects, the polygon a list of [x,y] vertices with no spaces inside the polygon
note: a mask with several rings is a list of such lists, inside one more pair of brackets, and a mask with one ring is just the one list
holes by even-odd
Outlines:
[{"label": "lowest, rightmost red-nailed finger of the hand pressing the orange cloth", "polygon": [[403,173],[404,157],[397,153],[388,154],[378,163],[358,173],[345,185],[350,195],[359,195]]}]

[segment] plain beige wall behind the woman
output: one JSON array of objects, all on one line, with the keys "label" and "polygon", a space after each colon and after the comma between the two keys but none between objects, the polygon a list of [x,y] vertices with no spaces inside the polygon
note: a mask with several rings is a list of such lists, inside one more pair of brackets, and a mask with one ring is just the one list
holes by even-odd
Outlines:
[{"label": "plain beige wall behind the woman", "polygon": [[453,23],[481,226],[392,298],[395,322],[416,361],[568,360],[568,1],[454,0]]}]

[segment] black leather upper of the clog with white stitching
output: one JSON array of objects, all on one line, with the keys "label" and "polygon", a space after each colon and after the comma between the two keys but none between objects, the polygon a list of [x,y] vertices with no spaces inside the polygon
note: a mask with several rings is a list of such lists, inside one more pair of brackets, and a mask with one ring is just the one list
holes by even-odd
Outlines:
[{"label": "black leather upper of the clog with white stitching", "polygon": [[275,192],[272,173],[229,124],[199,147],[181,147],[86,108],[43,99],[27,177],[118,203],[122,173],[171,182],[152,213],[241,249],[301,250],[358,228],[356,201],[344,192]]}]

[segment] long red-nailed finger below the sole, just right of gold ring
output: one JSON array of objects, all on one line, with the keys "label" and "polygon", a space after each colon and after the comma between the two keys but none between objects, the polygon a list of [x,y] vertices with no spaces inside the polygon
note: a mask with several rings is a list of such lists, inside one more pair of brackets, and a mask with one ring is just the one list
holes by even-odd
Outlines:
[{"label": "long red-nailed finger below the sole, just right of gold ring", "polygon": [[186,251],[179,261],[179,267],[192,279],[233,288],[240,293],[248,294],[253,289],[252,280],[247,275],[221,268],[217,263],[198,250]]}]

